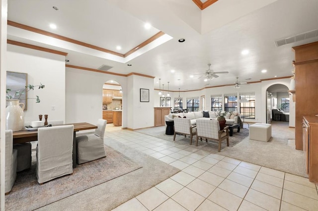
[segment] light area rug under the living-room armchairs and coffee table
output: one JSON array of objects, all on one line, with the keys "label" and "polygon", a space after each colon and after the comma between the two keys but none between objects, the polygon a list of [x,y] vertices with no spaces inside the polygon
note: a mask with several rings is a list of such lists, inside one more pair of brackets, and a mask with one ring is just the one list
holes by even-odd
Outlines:
[{"label": "light area rug under the living-room armchairs and coffee table", "polygon": [[[154,137],[164,139],[167,141],[173,141],[173,135],[165,134],[165,126],[136,130],[136,132],[154,136]],[[234,129],[233,136],[230,136],[229,138],[230,147],[235,146],[236,144],[244,140],[248,135],[249,135],[249,130],[246,128],[240,128],[239,133],[237,132],[237,129]],[[185,138],[184,135],[176,135],[175,141],[177,141],[178,143],[180,142],[190,143],[190,138],[189,137]],[[195,141],[196,141],[196,136],[193,137],[192,144],[195,143]],[[209,140],[209,142],[219,144],[218,141]],[[222,145],[226,146],[227,145],[226,141],[223,141]]]}]

